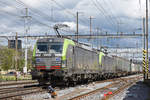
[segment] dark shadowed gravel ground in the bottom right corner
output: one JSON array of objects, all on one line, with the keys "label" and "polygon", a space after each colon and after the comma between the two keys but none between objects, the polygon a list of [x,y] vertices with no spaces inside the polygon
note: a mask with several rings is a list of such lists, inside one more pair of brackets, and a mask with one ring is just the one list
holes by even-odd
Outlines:
[{"label": "dark shadowed gravel ground in the bottom right corner", "polygon": [[143,84],[142,81],[143,80],[125,89],[110,100],[150,100],[150,87]]}]

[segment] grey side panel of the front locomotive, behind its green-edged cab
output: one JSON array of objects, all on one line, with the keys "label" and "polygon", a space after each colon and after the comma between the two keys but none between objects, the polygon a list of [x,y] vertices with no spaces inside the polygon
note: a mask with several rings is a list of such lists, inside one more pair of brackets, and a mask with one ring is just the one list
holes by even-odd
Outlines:
[{"label": "grey side panel of the front locomotive, behind its green-edged cab", "polygon": [[99,71],[98,54],[81,47],[74,48],[76,70],[80,73],[95,73]]}]

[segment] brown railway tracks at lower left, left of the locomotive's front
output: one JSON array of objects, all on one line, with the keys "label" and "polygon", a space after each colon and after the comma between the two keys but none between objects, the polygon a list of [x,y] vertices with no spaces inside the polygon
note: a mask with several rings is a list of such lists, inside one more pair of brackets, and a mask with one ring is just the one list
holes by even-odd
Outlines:
[{"label": "brown railway tracks at lower left, left of the locomotive's front", "polygon": [[31,93],[44,92],[45,90],[42,87],[39,87],[37,81],[18,81],[10,83],[1,83],[0,84],[0,100],[6,99],[19,99],[21,96],[28,95]]}]

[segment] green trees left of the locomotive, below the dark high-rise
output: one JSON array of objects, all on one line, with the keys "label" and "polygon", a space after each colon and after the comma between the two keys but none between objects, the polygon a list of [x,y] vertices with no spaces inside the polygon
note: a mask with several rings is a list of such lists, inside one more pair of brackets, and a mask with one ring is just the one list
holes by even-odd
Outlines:
[{"label": "green trees left of the locomotive, below the dark high-rise", "polygon": [[[16,63],[17,63],[17,70],[23,71],[24,67],[24,49],[18,50],[17,53],[17,62],[15,60],[16,57],[16,51],[15,49],[10,49],[4,46],[0,47],[0,69],[2,70],[9,70],[9,69],[16,69]],[[28,69],[32,68],[32,50],[28,50]]]}]

